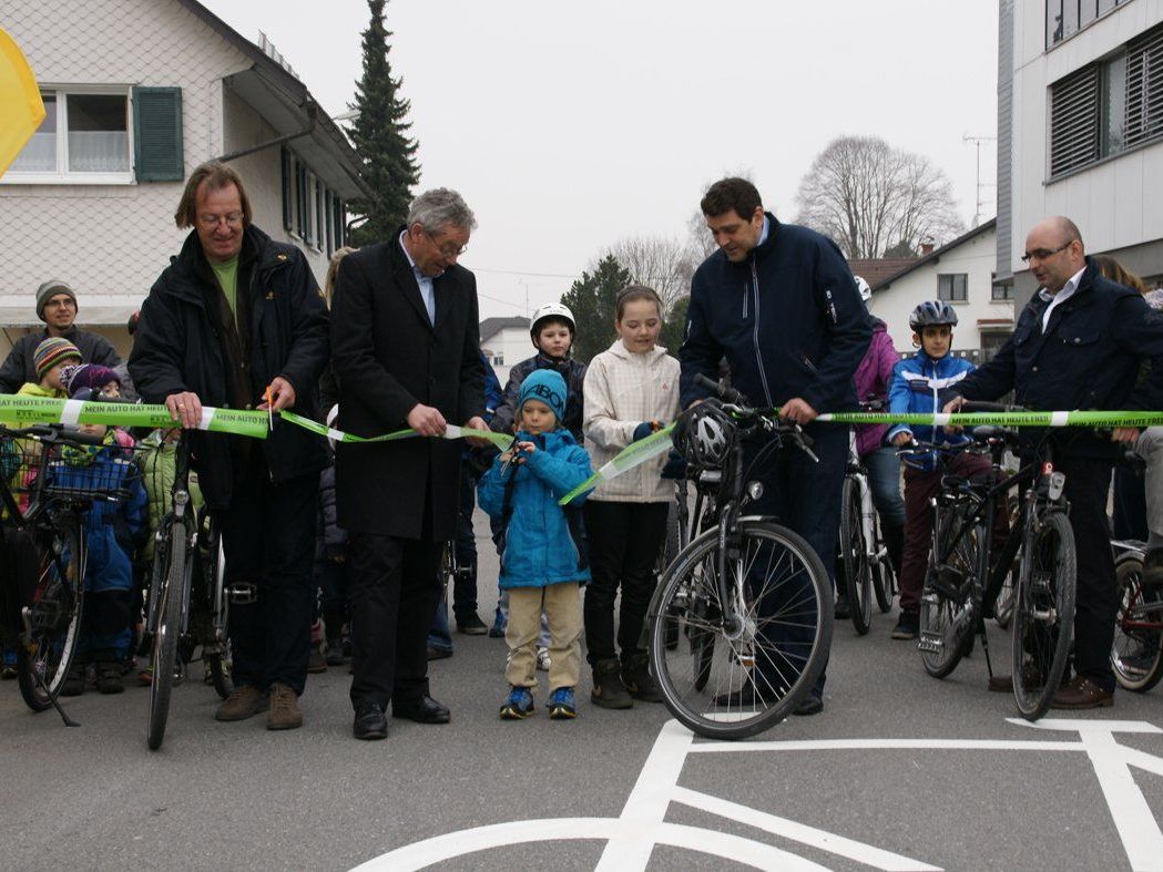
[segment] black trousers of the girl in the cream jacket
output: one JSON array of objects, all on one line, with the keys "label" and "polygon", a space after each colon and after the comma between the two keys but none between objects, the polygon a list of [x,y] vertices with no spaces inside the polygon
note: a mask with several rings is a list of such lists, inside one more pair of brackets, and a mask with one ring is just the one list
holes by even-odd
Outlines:
[{"label": "black trousers of the girl in the cream jacket", "polygon": [[585,589],[585,645],[591,665],[616,657],[614,599],[622,589],[618,648],[622,659],[644,653],[642,624],[654,595],[655,562],[666,536],[668,502],[585,503],[592,580]]}]

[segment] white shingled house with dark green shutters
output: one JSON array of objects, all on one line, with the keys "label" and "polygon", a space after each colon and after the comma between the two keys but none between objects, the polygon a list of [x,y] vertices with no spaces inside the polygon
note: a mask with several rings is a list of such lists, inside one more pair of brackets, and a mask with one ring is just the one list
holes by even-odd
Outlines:
[{"label": "white shingled house with dark green shutters", "polygon": [[41,328],[34,295],[50,278],[77,290],[79,326],[127,352],[128,316],[187,233],[173,222],[185,179],[211,158],[242,173],[255,223],[299,245],[322,283],[344,202],[372,192],[265,37],[194,0],[0,0],[0,23],[47,113],[0,177],[0,356]]}]

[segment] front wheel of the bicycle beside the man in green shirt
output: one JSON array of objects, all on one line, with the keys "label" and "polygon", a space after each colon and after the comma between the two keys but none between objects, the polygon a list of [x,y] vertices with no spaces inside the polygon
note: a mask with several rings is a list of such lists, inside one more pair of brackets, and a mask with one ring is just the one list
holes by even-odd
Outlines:
[{"label": "front wheel of the bicycle beside the man in green shirt", "polygon": [[[163,551],[164,548],[164,551]],[[158,565],[160,564],[160,565]],[[186,528],[174,522],[167,539],[158,542],[155,553],[155,571],[164,579],[158,589],[156,608],[157,626],[154,629],[154,649],[150,663],[154,678],[149,686],[149,726],[147,741],[151,751],[162,746],[165,723],[170,716],[170,693],[173,689],[173,669],[181,635],[181,606],[186,593]]]}]

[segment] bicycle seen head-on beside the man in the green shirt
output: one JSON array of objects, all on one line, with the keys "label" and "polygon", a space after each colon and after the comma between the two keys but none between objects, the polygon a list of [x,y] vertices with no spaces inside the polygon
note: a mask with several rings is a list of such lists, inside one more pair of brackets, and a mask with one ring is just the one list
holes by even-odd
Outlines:
[{"label": "bicycle seen head-on beside the man in the green shirt", "polygon": [[[190,445],[186,431],[174,455],[172,506],[154,539],[154,571],[148,595],[145,643],[150,650],[150,699],[147,743],[162,746],[170,713],[174,674],[192,660],[199,645],[214,689],[229,695],[230,602],[257,598],[250,582],[224,582],[224,559],[216,522],[194,512],[190,493]],[[179,662],[179,651],[186,653]]]}]

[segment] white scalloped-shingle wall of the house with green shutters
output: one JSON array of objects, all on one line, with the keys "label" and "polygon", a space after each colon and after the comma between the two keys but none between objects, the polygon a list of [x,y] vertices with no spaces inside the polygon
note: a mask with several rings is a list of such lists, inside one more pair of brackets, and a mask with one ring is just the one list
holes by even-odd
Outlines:
[{"label": "white scalloped-shingle wall of the house with green shutters", "polygon": [[[222,79],[252,62],[172,0],[85,0],[52,3],[0,0],[0,22],[45,87],[70,85],[178,86],[183,152],[188,174],[199,163],[276,136]],[[283,230],[279,149],[234,163],[247,181],[256,223],[277,240]],[[0,308],[33,308],[36,287],[69,281],[86,308],[136,309],[187,231],[173,213],[184,183],[17,185],[0,179]],[[326,252],[307,249],[322,283]],[[87,306],[86,306],[87,303]],[[124,317],[122,316],[122,317]],[[123,329],[101,329],[124,342]],[[0,337],[0,353],[19,338]]]}]

